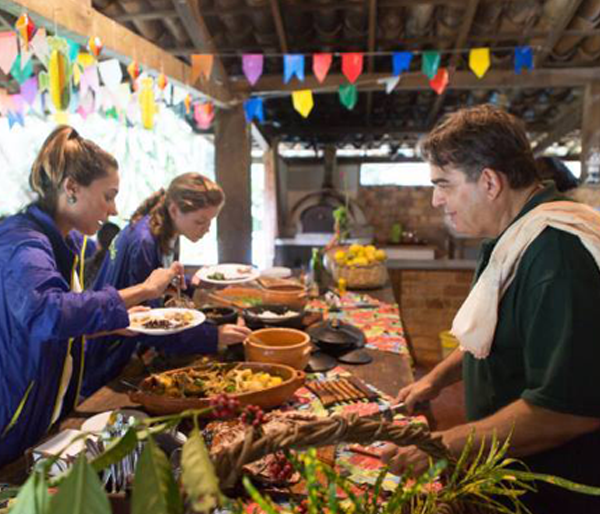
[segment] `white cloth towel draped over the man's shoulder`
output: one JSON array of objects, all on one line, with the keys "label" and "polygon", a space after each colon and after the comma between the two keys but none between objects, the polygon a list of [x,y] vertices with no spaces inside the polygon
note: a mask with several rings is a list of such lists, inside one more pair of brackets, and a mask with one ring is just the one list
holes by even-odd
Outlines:
[{"label": "white cloth towel draped over the man's shoulder", "polygon": [[600,268],[600,213],[576,202],[548,202],[513,223],[496,244],[490,261],[452,323],[463,351],[478,359],[492,347],[500,300],[512,283],[525,250],[546,227],[577,236]]}]

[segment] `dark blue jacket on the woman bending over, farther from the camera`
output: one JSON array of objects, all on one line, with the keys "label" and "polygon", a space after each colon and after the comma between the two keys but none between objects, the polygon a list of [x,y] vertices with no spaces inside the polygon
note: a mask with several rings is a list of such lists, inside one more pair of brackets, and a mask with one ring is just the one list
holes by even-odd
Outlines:
[{"label": "dark blue jacket on the woman bending over, farther from the camera", "polygon": [[[146,216],[127,225],[113,240],[96,276],[94,289],[107,284],[117,289],[139,284],[152,271],[162,267],[162,260],[162,252],[150,231],[149,217]],[[149,302],[151,307],[160,307],[160,304],[160,301]],[[90,340],[86,345],[86,359],[93,364],[85,369],[83,394],[88,396],[116,378],[140,342],[160,348],[167,354],[215,353],[218,330],[209,323],[203,323],[170,336],[107,336]]]}]

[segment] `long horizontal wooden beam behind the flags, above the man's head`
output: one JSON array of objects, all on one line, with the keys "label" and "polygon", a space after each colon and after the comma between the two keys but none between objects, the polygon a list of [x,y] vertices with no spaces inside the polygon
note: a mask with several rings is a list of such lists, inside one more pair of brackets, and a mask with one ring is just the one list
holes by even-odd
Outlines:
[{"label": "long horizontal wooden beam behind the flags, above the man's head", "polygon": [[[389,73],[363,74],[356,81],[360,91],[385,90],[385,84],[378,83],[389,78]],[[597,79],[597,68],[563,68],[563,69],[537,69],[516,75],[513,70],[490,70],[485,77],[478,79],[470,71],[457,71],[451,77],[451,89],[512,89],[512,88],[551,88],[551,87],[580,87]],[[232,77],[232,91],[246,95],[273,95],[285,96],[286,93],[300,89],[311,89],[314,94],[335,93],[342,84],[348,80],[342,74],[330,74],[323,84],[309,75],[304,82],[284,84],[281,75],[263,75],[251,87],[243,77]],[[430,90],[429,80],[420,71],[402,74],[402,80],[396,86],[397,91]]]}]

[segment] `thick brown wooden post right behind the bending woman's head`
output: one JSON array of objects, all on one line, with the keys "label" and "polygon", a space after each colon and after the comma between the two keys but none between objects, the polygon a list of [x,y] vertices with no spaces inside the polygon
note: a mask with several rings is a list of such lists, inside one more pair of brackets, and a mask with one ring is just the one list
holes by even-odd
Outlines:
[{"label": "thick brown wooden post right behind the bending woman's head", "polygon": [[244,108],[220,109],[215,126],[215,175],[227,201],[217,219],[219,262],[252,261],[250,130]]}]

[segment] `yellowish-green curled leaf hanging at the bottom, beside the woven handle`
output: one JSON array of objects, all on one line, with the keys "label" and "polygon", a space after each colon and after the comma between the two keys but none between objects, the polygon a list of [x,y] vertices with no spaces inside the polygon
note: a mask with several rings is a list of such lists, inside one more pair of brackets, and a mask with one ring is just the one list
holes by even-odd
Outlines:
[{"label": "yellowish-green curled leaf hanging at the bottom, beside the woven handle", "polygon": [[200,431],[195,428],[181,454],[181,481],[194,510],[205,512],[219,503],[219,479]]}]

